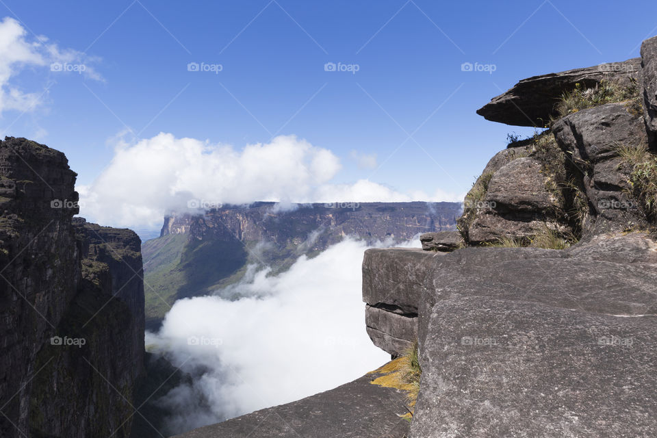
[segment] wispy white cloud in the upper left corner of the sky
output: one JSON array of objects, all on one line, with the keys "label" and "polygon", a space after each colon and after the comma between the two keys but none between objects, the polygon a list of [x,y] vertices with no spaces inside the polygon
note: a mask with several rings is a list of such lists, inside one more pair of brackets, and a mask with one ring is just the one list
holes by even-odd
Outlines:
[{"label": "wispy white cloud in the upper left corner of the sky", "polygon": [[57,73],[80,73],[103,78],[89,65],[94,60],[73,49],[63,49],[45,36],[29,36],[11,17],[0,21],[0,114],[7,110],[31,111],[44,101],[46,91],[27,92],[12,83],[25,68],[47,68]]}]

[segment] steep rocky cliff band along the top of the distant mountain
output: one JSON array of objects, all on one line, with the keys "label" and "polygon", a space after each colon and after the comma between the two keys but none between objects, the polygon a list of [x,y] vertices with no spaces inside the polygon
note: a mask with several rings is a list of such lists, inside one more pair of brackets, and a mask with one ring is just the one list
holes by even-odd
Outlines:
[{"label": "steep rocky cliff band along the top of the distant mountain", "polygon": [[298,205],[276,211],[274,203],[213,209],[202,216],[172,215],[164,219],[161,236],[189,234],[235,238],[242,242],[300,244],[320,231],[322,249],[346,235],[370,241],[394,237],[411,239],[417,233],[455,229],[459,203],[335,203]]}]

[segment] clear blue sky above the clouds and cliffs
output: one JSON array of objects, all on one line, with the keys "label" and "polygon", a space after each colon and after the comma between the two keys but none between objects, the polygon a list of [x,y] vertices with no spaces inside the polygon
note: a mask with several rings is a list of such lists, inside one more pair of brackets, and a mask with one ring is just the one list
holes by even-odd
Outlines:
[{"label": "clear blue sky above the clouds and cliffs", "polygon": [[[460,195],[507,133],[532,132],[478,116],[491,97],[524,77],[639,56],[657,34],[657,3],[591,5],[3,0],[0,17],[18,21],[25,40],[45,36],[98,76],[15,64],[4,86],[40,99],[27,112],[3,109],[0,127],[64,151],[80,185],[131,130],[132,142],[165,132],[236,151],[296,135],[339,158],[331,183]],[[221,71],[188,71],[190,62]],[[358,71],[325,71],[327,62]],[[463,62],[495,71],[463,72]],[[362,155],[374,165],[359,166]]]}]

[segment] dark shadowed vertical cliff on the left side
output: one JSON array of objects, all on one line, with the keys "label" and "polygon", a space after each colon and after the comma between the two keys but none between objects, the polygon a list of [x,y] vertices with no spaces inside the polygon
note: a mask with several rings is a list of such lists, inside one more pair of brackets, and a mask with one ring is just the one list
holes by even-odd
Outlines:
[{"label": "dark shadowed vertical cliff on the left side", "polygon": [[140,240],[73,219],[63,153],[0,143],[0,435],[127,437],[143,368]]}]

